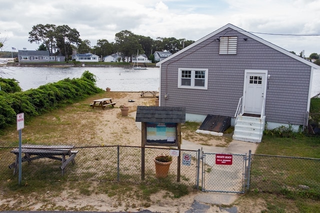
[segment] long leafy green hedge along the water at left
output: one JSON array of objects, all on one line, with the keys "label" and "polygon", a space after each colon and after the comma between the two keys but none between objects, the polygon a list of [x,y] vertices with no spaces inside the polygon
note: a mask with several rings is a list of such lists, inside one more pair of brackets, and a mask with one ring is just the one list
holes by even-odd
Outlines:
[{"label": "long leafy green hedge along the water at left", "polygon": [[0,78],[0,131],[15,125],[16,114],[24,113],[27,119],[102,92],[95,81],[92,73],[84,71],[81,78],[66,78],[21,92],[15,79]]}]

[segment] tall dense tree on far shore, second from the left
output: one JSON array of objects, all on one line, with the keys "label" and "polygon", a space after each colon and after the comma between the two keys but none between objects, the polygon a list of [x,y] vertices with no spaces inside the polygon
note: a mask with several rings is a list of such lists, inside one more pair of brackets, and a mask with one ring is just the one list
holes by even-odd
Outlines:
[{"label": "tall dense tree on far shore, second from the left", "polygon": [[71,44],[75,44],[77,46],[81,43],[79,32],[75,28],[71,29],[68,25],[57,26],[55,30],[55,37],[57,40],[57,46],[60,49],[60,52],[64,53],[66,59],[68,59],[69,54],[72,54]]}]

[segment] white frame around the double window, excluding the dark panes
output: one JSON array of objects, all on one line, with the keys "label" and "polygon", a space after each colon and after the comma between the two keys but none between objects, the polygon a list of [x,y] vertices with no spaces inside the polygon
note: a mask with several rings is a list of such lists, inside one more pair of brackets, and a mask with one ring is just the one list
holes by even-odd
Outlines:
[{"label": "white frame around the double window, excluding the dark panes", "polygon": [[[181,85],[181,77],[182,71],[191,71],[191,85]],[[195,86],[195,71],[204,71],[204,86]],[[208,87],[208,69],[203,68],[178,68],[178,88],[186,88],[186,89],[204,89],[207,90]]]}]

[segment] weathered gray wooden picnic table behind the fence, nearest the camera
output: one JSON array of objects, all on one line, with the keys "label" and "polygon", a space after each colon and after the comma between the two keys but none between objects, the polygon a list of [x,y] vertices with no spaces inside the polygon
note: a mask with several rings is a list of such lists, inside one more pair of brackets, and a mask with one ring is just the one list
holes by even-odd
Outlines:
[{"label": "weathered gray wooden picnic table behind the fence, nearest the camera", "polygon": [[[60,169],[64,175],[65,167],[70,162],[75,164],[74,158],[78,151],[71,150],[73,147],[73,145],[22,145],[21,154],[24,153],[24,156],[21,158],[21,163],[31,163],[31,161],[41,158],[58,160],[61,161]],[[13,168],[13,175],[15,175],[19,164],[19,148],[14,148],[11,153],[15,154],[15,161],[9,165],[9,169]]]}]

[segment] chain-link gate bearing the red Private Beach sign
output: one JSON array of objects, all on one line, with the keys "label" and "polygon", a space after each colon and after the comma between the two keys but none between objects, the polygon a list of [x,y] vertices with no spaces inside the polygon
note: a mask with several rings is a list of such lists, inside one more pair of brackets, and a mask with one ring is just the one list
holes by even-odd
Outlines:
[{"label": "chain-link gate bearing the red Private Beach sign", "polygon": [[246,155],[202,153],[201,158],[203,192],[245,192],[249,176]]}]

